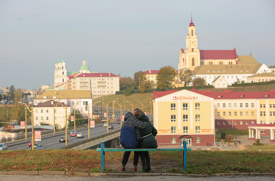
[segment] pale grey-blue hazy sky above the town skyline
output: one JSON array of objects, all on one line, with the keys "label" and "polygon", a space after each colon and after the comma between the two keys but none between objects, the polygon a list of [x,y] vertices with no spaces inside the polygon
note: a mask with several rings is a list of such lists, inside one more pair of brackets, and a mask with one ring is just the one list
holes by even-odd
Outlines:
[{"label": "pale grey-blue hazy sky above the town skyline", "polygon": [[134,76],[171,65],[193,15],[200,50],[231,50],[275,64],[275,1],[2,0],[0,87],[54,83],[57,55],[67,71]]}]

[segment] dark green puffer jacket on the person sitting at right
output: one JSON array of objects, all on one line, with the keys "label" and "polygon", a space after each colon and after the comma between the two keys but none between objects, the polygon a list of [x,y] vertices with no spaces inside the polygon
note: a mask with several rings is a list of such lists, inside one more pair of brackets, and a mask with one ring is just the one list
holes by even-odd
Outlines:
[{"label": "dark green puffer jacket on the person sitting at right", "polygon": [[148,122],[148,126],[144,129],[139,129],[136,127],[136,137],[139,142],[139,148],[157,148],[158,143],[155,137],[158,131],[151,124],[148,116],[143,113],[137,118],[141,121]]}]

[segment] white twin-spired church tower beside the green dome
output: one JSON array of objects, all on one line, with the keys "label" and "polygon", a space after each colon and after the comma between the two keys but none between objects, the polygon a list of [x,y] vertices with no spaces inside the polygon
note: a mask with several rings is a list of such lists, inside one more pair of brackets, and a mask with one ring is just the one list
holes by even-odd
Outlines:
[{"label": "white twin-spired church tower beside the green dome", "polygon": [[66,82],[67,79],[66,62],[63,60],[63,56],[61,61],[59,61],[59,56],[57,55],[57,62],[55,63],[54,69],[54,87]]}]

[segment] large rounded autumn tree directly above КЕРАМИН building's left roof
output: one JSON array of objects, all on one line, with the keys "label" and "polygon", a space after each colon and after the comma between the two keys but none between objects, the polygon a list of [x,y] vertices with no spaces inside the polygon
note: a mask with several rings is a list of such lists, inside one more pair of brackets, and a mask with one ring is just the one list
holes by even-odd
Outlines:
[{"label": "large rounded autumn tree directly above \u041a\u0415\u0420\u0410\u041c\u0418\u041d building's left roof", "polygon": [[172,88],[172,83],[174,82],[176,75],[176,69],[172,66],[160,68],[160,71],[157,73],[157,86],[162,90]]}]

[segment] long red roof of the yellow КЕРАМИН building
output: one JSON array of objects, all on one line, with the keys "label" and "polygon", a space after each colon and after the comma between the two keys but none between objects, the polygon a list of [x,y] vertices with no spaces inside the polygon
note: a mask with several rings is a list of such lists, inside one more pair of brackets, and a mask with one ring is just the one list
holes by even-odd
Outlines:
[{"label": "long red roof of the yellow \u041a\u0415\u0420\u0410\u041c\u0418\u041d building", "polygon": [[[170,91],[153,91],[153,96],[159,98],[179,90],[170,90]],[[275,89],[271,89],[269,92],[232,92],[232,90],[224,90],[224,92],[212,92],[212,90],[196,90],[192,89],[192,92],[202,94],[214,99],[274,99],[275,98]],[[242,95],[242,97],[241,97]],[[267,97],[265,97],[267,95]]]}]

